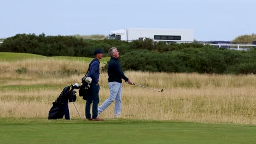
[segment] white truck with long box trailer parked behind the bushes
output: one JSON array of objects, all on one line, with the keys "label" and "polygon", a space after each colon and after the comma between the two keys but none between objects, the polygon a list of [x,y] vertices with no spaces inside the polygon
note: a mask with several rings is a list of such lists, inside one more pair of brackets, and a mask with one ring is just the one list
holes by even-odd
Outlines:
[{"label": "white truck with long box trailer parked behind the bushes", "polygon": [[192,43],[192,29],[124,28],[109,33],[109,39],[124,41],[143,40],[166,41],[167,43]]}]

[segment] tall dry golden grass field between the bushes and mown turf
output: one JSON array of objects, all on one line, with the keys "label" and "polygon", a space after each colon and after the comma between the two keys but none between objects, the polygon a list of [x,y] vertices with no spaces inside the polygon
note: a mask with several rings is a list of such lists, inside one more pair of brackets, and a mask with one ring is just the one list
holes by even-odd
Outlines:
[{"label": "tall dry golden grass field between the bushes and mown turf", "polygon": [[[103,65],[102,65],[103,66]],[[26,68],[26,73],[16,69]],[[65,86],[80,83],[85,62],[30,59],[0,62],[0,117],[47,118]],[[67,71],[77,70],[76,73]],[[63,72],[64,71],[64,72]],[[65,72],[66,71],[66,72]],[[256,76],[125,71],[134,83],[164,88],[159,93],[123,83],[121,118],[256,125]],[[107,74],[100,75],[100,104],[108,98]],[[85,117],[85,101],[75,102]],[[72,103],[71,117],[78,119]],[[100,117],[114,117],[114,103]]]}]

